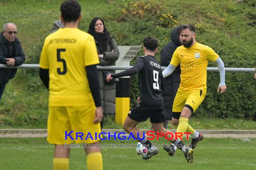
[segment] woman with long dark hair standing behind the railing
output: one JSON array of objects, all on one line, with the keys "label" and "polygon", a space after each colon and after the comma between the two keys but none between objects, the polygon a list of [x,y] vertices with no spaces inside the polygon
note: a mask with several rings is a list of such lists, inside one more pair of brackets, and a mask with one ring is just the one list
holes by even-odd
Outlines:
[{"label": "woman with long dark hair standing behind the railing", "polygon": [[[102,18],[95,17],[90,23],[88,33],[93,35],[98,57],[101,66],[115,65],[115,61],[119,58],[119,49],[115,39],[109,34]],[[101,101],[103,114],[115,114],[115,83],[108,83],[103,81],[103,73],[112,72],[114,70],[98,70],[100,81]],[[107,84],[106,84],[107,83]],[[102,125],[102,123],[101,123]]]}]

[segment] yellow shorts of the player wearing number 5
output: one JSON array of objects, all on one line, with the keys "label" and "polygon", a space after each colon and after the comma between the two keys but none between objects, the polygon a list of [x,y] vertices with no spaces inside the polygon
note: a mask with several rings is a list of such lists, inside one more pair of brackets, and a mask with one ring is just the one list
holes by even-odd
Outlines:
[{"label": "yellow shorts of the player wearing number 5", "polygon": [[[100,140],[98,134],[101,133],[100,123],[93,123],[95,118],[95,106],[94,107],[53,107],[49,106],[49,117],[48,117],[48,136],[47,140],[50,144],[72,144],[75,143],[87,143],[93,144]],[[71,133],[74,140],[66,135],[67,140],[65,140],[66,134]],[[76,139],[75,132],[82,132],[84,136],[82,139],[78,137]],[[87,138],[88,132],[92,135],[93,139]],[[97,132],[97,139],[95,137],[95,132]]]}]

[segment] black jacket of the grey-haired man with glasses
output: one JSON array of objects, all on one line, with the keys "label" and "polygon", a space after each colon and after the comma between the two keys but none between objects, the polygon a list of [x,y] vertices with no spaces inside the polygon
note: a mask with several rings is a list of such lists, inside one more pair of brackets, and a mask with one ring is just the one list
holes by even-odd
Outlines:
[{"label": "black jacket of the grey-haired man with glasses", "polygon": [[[18,38],[12,43],[9,43],[4,36],[0,34],[0,64],[6,64],[6,58],[14,58],[14,66],[19,66],[24,63],[25,54]],[[8,81],[15,76],[16,72],[17,68],[0,68],[0,85],[8,83]]]}]

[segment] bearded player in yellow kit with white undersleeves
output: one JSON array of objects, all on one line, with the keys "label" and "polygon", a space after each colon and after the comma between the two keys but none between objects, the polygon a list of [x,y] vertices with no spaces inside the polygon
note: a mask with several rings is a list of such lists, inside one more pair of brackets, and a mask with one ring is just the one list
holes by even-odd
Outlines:
[{"label": "bearded player in yellow kit with white undersleeves", "polygon": [[223,61],[211,47],[196,42],[195,35],[193,25],[181,26],[180,38],[182,38],[183,46],[176,49],[170,64],[163,70],[163,77],[166,77],[173,72],[178,64],[181,65],[181,83],[173,102],[172,124],[177,126],[177,132],[191,132],[190,147],[192,149],[203,139],[203,135],[189,125],[188,119],[206,96],[208,61],[218,64],[221,81],[217,91],[224,93],[226,90]]}]

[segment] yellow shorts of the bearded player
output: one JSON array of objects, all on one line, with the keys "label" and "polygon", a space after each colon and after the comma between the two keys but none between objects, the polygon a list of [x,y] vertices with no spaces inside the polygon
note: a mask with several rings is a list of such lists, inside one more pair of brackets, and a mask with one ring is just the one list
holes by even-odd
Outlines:
[{"label": "yellow shorts of the bearded player", "polygon": [[192,114],[197,110],[199,105],[203,102],[206,96],[206,89],[203,90],[188,90],[183,91],[178,89],[175,96],[172,112],[181,113],[181,110],[185,105],[189,105]]}]

